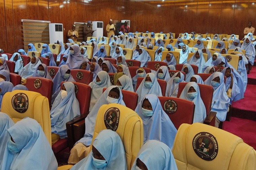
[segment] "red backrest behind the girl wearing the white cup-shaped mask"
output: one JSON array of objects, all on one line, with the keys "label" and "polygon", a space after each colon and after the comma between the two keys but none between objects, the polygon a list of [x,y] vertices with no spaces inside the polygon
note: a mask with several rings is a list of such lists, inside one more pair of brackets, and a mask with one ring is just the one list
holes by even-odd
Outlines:
[{"label": "red backrest behind the girl wearing the white cup-shaped mask", "polygon": [[[60,89],[62,89],[62,84],[60,84]],[[91,94],[92,89],[90,86],[80,82],[72,82],[75,84],[75,97],[79,102],[80,114],[85,114],[89,112],[90,109],[90,101],[91,101]]]}]

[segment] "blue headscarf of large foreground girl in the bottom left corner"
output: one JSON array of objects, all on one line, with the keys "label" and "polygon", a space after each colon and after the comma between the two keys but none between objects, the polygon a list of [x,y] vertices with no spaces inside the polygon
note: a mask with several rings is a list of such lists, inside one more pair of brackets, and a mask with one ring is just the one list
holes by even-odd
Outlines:
[{"label": "blue headscarf of large foreground girl in the bottom left corner", "polygon": [[57,169],[53,150],[36,120],[26,117],[8,132],[20,152],[13,154],[6,146],[0,169]]}]

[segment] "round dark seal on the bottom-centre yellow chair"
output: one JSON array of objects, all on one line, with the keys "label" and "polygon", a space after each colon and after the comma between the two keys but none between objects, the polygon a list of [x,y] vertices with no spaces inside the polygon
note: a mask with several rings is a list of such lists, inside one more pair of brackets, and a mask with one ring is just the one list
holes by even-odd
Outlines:
[{"label": "round dark seal on the bottom-centre yellow chair", "polygon": [[109,108],[104,114],[104,123],[107,129],[116,131],[119,124],[120,110],[116,107]]}]

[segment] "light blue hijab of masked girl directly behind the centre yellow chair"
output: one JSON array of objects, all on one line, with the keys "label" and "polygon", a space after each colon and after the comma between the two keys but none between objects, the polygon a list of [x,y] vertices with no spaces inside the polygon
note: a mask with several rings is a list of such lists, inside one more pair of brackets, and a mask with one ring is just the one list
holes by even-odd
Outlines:
[{"label": "light blue hijab of masked girl directly behind the centre yellow chair", "polygon": [[88,116],[85,118],[85,135],[83,138],[81,138],[80,140],[78,140],[75,145],[78,142],[83,143],[85,146],[90,146],[92,143],[92,136],[93,136],[93,131],[94,131],[94,126],[95,126],[95,122],[96,122],[96,117],[98,114],[98,110],[102,105],[107,105],[108,102],[106,100],[106,98],[108,97],[108,94],[110,92],[110,90],[112,90],[113,88],[117,88],[119,90],[119,99],[118,99],[118,103],[120,105],[126,106],[124,101],[123,101],[123,95],[122,95],[122,91],[121,89],[119,89],[119,87],[117,86],[110,86],[109,88],[107,88],[105,90],[105,92],[100,96],[100,98],[98,99],[98,101],[96,102],[96,104],[94,105],[94,107],[92,108],[91,112],[88,114]]}]

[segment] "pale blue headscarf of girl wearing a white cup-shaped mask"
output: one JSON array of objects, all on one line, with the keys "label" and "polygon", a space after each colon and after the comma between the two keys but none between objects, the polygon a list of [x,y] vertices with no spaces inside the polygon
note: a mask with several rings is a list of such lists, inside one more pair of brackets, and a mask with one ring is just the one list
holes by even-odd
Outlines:
[{"label": "pale blue headscarf of girl wearing a white cup-shaped mask", "polygon": [[62,99],[61,92],[56,97],[51,112],[52,133],[60,135],[60,138],[67,138],[66,122],[80,115],[79,102],[75,97],[75,85],[72,82],[64,82],[67,96]]}]

